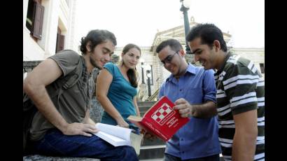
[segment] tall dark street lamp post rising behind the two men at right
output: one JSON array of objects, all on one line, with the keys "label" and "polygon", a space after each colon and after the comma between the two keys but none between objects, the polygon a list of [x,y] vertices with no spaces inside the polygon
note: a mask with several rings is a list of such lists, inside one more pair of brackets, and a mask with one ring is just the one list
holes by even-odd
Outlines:
[{"label": "tall dark street lamp post rising behind the two men at right", "polygon": [[[188,22],[188,10],[190,7],[190,0],[180,0],[181,1],[181,11],[183,12],[183,20],[184,20],[184,32],[185,35],[188,35],[190,31],[189,22]],[[186,39],[185,36],[185,39]],[[188,46],[188,41],[186,41],[186,53],[190,54],[190,48]]]}]

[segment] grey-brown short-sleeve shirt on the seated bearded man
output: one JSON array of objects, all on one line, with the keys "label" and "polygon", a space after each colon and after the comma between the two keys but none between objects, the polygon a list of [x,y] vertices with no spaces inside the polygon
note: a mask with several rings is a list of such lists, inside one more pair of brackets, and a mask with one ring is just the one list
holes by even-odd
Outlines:
[{"label": "grey-brown short-sleeve shirt on the seated bearded man", "polygon": [[[46,90],[50,96],[55,95],[55,92],[62,87],[61,81],[69,74],[73,74],[78,66],[79,59],[82,56],[73,50],[63,50],[62,52],[52,55],[49,59],[53,59],[63,74],[50,85],[46,86]],[[89,90],[90,75],[87,73],[85,61],[83,63],[83,71],[78,82],[67,90],[63,90],[59,97],[52,97],[51,100],[57,111],[62,115],[67,123],[80,123],[85,118],[85,111],[90,108],[92,92]],[[44,74],[44,73],[43,73]],[[91,85],[94,86],[94,85]],[[45,132],[51,128],[55,128],[45,117],[38,111],[31,125],[31,140],[39,140],[43,138]]]}]

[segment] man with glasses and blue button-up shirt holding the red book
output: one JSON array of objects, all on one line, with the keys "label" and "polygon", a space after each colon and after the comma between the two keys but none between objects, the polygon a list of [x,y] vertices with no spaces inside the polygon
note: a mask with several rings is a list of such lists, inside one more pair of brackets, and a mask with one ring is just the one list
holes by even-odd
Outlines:
[{"label": "man with glasses and blue button-up shirt holding the red book", "polygon": [[[218,160],[221,147],[216,119],[214,71],[188,64],[179,41],[163,41],[156,49],[171,75],[160,87],[158,98],[167,96],[190,121],[167,141],[165,161]],[[188,108],[183,108],[188,107]]]}]

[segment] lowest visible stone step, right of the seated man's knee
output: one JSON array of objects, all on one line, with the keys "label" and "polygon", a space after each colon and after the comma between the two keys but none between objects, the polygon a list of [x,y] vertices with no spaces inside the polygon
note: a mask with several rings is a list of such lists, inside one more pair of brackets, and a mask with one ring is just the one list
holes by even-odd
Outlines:
[{"label": "lowest visible stone step, right of the seated man's knee", "polygon": [[163,158],[165,153],[165,145],[141,146],[139,160]]}]

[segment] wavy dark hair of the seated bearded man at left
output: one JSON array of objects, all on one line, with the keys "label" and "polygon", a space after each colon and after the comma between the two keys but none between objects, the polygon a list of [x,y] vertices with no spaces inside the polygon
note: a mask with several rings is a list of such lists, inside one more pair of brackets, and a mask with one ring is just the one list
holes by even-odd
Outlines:
[{"label": "wavy dark hair of the seated bearded man at left", "polygon": [[87,48],[85,46],[88,42],[91,43],[91,50],[94,50],[94,47],[99,45],[100,43],[104,43],[107,40],[110,40],[113,45],[117,45],[116,36],[111,33],[111,31],[105,29],[94,29],[87,33],[87,36],[81,38],[80,41],[80,51],[83,55],[87,52]]}]

